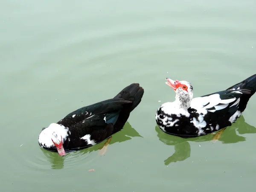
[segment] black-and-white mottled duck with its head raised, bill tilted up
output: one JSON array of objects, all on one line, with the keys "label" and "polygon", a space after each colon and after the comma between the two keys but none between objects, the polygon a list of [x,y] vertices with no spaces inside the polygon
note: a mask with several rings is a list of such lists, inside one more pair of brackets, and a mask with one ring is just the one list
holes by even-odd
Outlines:
[{"label": "black-and-white mottled duck with its head raised, bill tilted up", "polygon": [[226,90],[194,99],[189,82],[166,80],[176,92],[175,101],[161,105],[155,119],[162,131],[183,138],[210,134],[230,126],[256,92],[256,74]]}]

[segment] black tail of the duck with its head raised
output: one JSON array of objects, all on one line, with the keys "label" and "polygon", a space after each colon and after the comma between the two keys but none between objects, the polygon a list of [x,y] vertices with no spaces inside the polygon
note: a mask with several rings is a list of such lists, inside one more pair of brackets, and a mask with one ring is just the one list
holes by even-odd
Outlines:
[{"label": "black tail of the duck with its head raised", "polygon": [[247,90],[247,94],[241,96],[241,100],[239,102],[239,111],[243,112],[246,108],[247,102],[249,101],[250,97],[256,92],[256,74],[244,79],[238,84],[235,84],[227,90],[237,90],[237,89],[244,89]]}]

